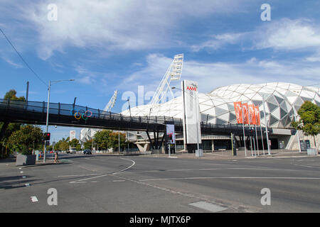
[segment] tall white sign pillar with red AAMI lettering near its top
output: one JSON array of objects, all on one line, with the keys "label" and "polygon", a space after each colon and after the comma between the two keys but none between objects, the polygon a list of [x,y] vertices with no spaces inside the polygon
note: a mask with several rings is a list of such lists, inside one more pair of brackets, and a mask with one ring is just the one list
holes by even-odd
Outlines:
[{"label": "tall white sign pillar with red AAMI lettering near its top", "polygon": [[198,83],[183,80],[183,139],[185,144],[201,143]]}]

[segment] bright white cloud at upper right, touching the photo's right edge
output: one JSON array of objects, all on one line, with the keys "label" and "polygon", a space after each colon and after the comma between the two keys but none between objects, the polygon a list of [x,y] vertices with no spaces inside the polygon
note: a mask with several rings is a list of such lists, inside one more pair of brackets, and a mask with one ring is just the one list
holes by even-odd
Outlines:
[{"label": "bright white cloud at upper right, touching the photo's right edge", "polygon": [[223,33],[212,35],[212,38],[200,45],[193,45],[191,50],[204,48],[218,50],[228,44],[246,43],[246,49],[262,50],[320,50],[320,26],[301,18],[279,21],[268,21],[254,31],[245,33]]}]

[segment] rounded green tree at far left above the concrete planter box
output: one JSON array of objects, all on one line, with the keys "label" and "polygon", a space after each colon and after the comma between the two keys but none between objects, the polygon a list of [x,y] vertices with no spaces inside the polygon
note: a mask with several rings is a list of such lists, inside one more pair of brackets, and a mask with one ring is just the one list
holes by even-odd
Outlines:
[{"label": "rounded green tree at far left above the concrete planter box", "polygon": [[28,155],[33,149],[41,148],[43,142],[43,131],[41,128],[31,125],[21,126],[18,131],[12,133],[9,137],[9,147]]}]

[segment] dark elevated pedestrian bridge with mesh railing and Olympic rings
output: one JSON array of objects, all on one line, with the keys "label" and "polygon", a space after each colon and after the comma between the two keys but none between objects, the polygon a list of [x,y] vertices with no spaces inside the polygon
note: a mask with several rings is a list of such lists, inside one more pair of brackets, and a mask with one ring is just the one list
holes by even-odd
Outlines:
[{"label": "dark elevated pedestrian bridge with mesh railing and Olympic rings", "polygon": [[[46,125],[47,103],[41,101],[21,101],[0,99],[0,121],[7,125],[13,123],[29,123]],[[166,123],[174,123],[176,133],[183,132],[181,118],[167,116],[124,116],[122,114],[92,109],[74,104],[50,103],[49,120],[51,126],[71,126],[80,128],[105,128],[120,131],[156,131],[164,132]],[[5,127],[6,128],[6,127]],[[1,134],[4,127],[1,128]],[[260,133],[260,127],[257,127]],[[262,128],[262,131],[265,131]],[[204,135],[243,135],[242,125],[217,125],[201,122],[201,134]],[[268,128],[268,133],[272,129]],[[254,135],[245,126],[245,135]]]}]

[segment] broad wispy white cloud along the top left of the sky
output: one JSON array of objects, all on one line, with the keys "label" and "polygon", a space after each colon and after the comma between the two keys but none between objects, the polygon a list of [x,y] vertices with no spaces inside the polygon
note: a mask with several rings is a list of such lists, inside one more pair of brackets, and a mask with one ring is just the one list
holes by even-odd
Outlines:
[{"label": "broad wispy white cloud along the top left of the sky", "polygon": [[[4,1],[0,7],[11,17],[22,17],[20,26],[38,32],[38,53],[44,60],[66,47],[96,48],[102,52],[166,48],[177,45],[176,33],[186,18],[240,11],[236,0],[186,1]],[[4,4],[5,6],[2,6]],[[49,4],[58,6],[58,20],[48,21]],[[13,14],[14,13],[14,14]]]}]

